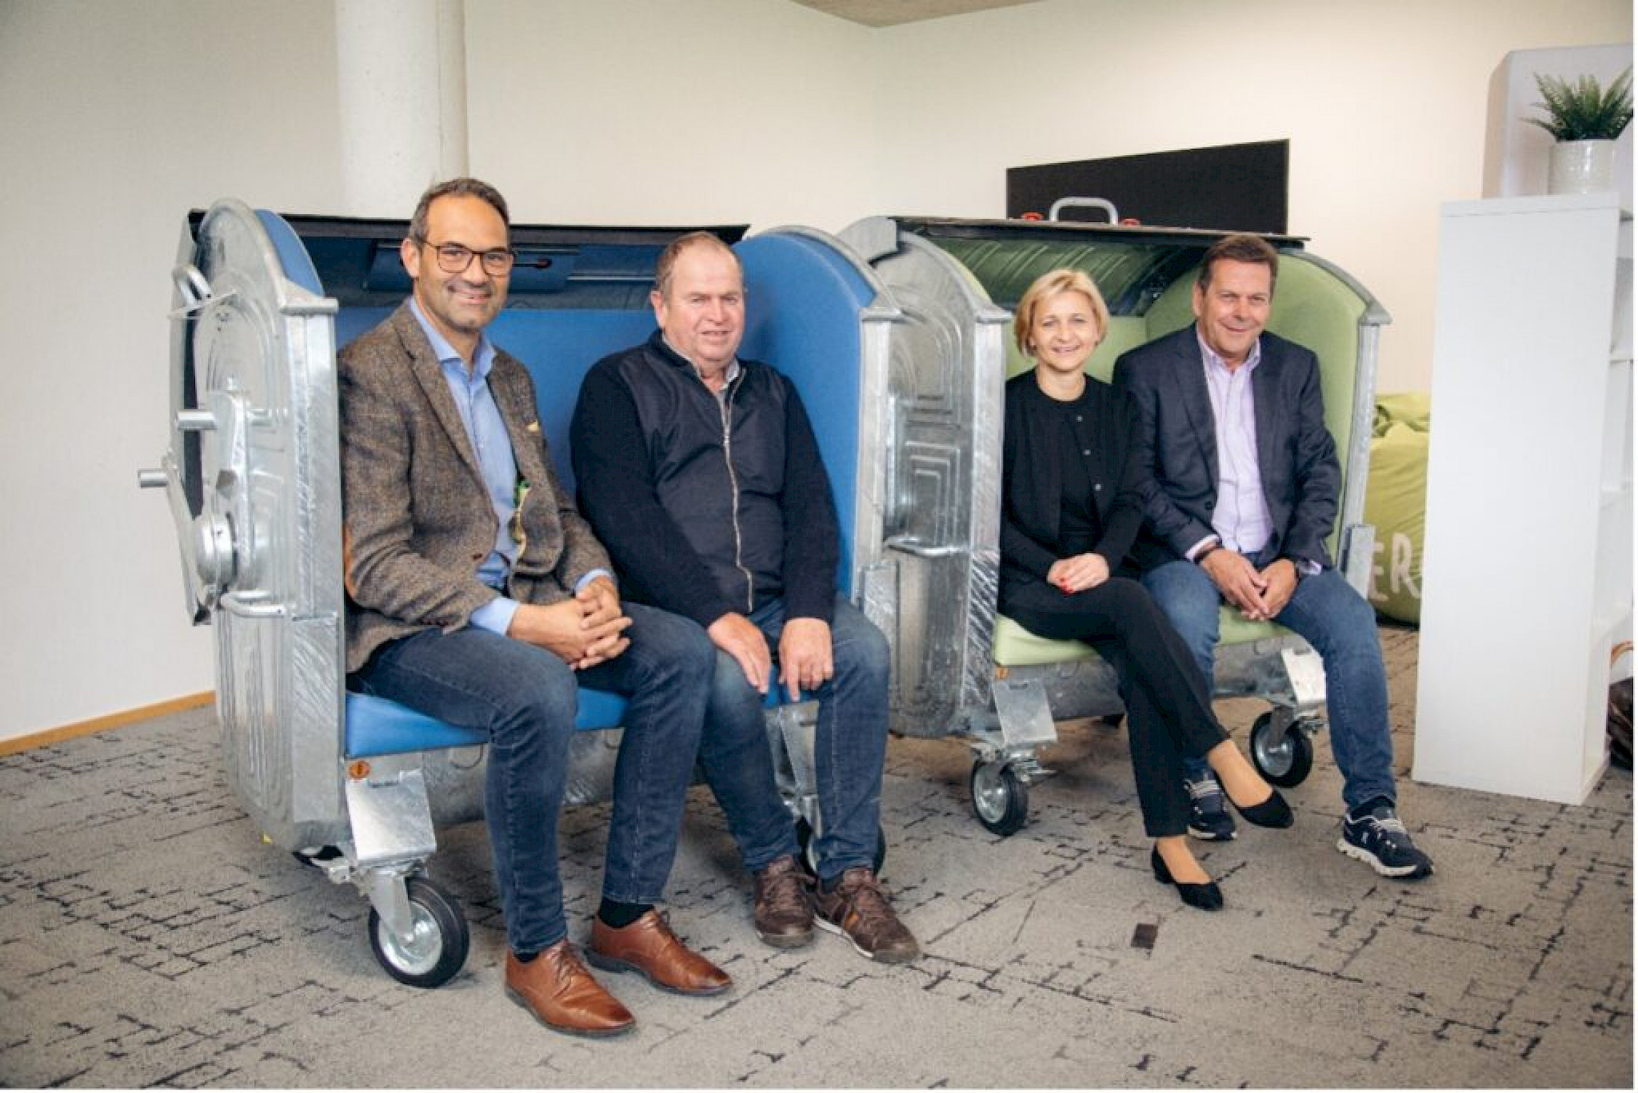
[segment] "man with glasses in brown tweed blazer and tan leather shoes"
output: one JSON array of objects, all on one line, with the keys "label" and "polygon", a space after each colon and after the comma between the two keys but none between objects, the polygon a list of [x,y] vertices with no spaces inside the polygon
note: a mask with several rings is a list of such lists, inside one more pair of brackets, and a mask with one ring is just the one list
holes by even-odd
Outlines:
[{"label": "man with glasses in brown tweed blazer and tan leather shoes", "polygon": [[488,735],[485,818],[506,915],[506,993],[581,1036],[632,1016],[563,923],[557,813],[577,684],[631,695],[591,960],[686,995],[729,977],[654,908],[676,851],[714,648],[626,604],[552,468],[529,373],[485,327],[514,255],[473,178],[423,195],[400,255],[411,298],[339,355],[351,686]]}]

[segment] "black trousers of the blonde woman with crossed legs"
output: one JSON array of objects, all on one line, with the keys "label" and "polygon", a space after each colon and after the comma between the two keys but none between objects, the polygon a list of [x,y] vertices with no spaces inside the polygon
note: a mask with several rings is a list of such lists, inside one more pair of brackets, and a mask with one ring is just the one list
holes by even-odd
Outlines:
[{"label": "black trousers of the blonde woman with crossed legs", "polygon": [[1183,758],[1228,738],[1189,648],[1142,584],[1109,578],[1065,596],[1045,581],[1007,582],[1001,614],[1043,638],[1086,641],[1109,661],[1127,707],[1132,774],[1150,838],[1183,834],[1189,795]]}]

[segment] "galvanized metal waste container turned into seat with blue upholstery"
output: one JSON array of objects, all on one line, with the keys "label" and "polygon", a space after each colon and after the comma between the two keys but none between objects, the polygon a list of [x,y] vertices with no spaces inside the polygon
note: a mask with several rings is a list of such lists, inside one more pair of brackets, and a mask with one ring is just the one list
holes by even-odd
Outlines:
[{"label": "galvanized metal waste container turned into seat with blue upholstery", "polygon": [[[459,905],[423,875],[434,821],[482,812],[482,740],[349,695],[342,658],[336,350],[411,291],[405,221],[280,218],[221,201],[190,214],[172,270],[172,422],[161,468],[182,551],[185,607],[216,633],[216,707],[229,780],[274,844],[355,884],[370,938],[401,982],[436,987],[465,959]],[[518,263],[490,337],[527,367],[541,425],[573,489],[568,419],[580,380],[647,339],[654,265],[686,229],[514,226]],[[742,352],[803,394],[842,522],[839,584],[853,587],[863,360],[896,314],[834,239],[785,227],[735,245],[745,267]],[[865,520],[873,527],[871,520]],[[568,800],[608,797],[624,700],[581,690]],[[811,723],[770,723],[785,790],[809,830]]]}]

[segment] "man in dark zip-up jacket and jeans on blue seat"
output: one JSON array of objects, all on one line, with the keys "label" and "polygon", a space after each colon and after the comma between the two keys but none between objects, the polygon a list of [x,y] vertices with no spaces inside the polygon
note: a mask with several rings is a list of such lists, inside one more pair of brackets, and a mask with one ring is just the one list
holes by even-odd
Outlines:
[{"label": "man in dark zip-up jacket and jeans on blue seat", "polygon": [[[867,957],[911,960],[873,862],[888,736],[888,645],[835,592],[830,481],[796,388],[739,360],[739,259],[708,232],[667,247],[660,329],[598,362],[570,432],[580,502],[627,596],[693,618],[717,646],[699,764],[755,877],[757,933],[806,944],[817,924]],[[771,668],[819,700],[819,890],[808,895],[763,728]]]}]

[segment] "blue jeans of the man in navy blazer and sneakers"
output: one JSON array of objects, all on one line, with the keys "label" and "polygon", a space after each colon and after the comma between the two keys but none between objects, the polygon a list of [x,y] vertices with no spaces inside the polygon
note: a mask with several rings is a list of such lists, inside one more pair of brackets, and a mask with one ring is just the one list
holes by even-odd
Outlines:
[{"label": "blue jeans of the man in navy blazer and sneakers", "polygon": [[[1268,560],[1251,558],[1263,568]],[[1217,609],[1222,596],[1192,561],[1168,561],[1143,574],[1143,586],[1183,635],[1206,681],[1212,681]],[[1342,798],[1350,810],[1373,797],[1394,797],[1394,741],[1387,725],[1387,672],[1376,636],[1376,612],[1335,569],[1304,578],[1274,617],[1302,635],[1325,661],[1325,707],[1332,754],[1342,771]],[[1191,776],[1202,771],[1191,761]]]}]

